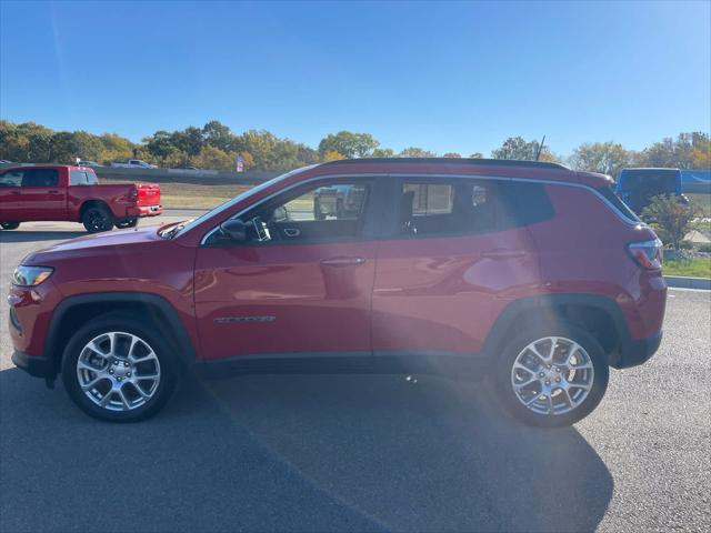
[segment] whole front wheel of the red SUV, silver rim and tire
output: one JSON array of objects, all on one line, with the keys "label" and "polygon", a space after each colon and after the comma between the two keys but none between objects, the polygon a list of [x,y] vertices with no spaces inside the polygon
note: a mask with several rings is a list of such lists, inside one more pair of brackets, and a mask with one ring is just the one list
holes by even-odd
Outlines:
[{"label": "whole front wheel of the red SUV, silver rim and tire", "polygon": [[134,319],[110,314],[70,339],[62,381],[88,415],[109,422],[153,416],[170,399],[179,363],[162,339]]}]

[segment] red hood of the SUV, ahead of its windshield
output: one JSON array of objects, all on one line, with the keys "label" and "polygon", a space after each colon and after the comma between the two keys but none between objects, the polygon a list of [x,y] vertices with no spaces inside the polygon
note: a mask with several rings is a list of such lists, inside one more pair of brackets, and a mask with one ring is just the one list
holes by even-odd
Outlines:
[{"label": "red hood of the SUV, ahead of its windshield", "polygon": [[[163,241],[158,234],[161,225],[147,225],[129,230],[108,231],[93,235],[79,237],[70,241],[60,242],[38,252],[29,254],[22,264],[47,264],[52,260],[77,258],[83,254],[101,252],[116,253],[117,248],[140,247],[143,244]],[[49,264],[48,264],[49,265]]]}]

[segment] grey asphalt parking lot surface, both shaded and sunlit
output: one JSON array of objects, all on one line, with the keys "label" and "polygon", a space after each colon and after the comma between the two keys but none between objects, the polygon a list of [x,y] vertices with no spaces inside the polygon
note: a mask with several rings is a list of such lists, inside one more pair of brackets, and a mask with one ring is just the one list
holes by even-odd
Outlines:
[{"label": "grey asphalt parking lot surface, both shaded and sunlit", "polygon": [[[3,290],[82,234],[0,232]],[[189,379],[154,420],[100,423],[14,369],[0,316],[2,532],[711,530],[711,292],[671,290],[660,352],[554,431],[431,376]]]}]

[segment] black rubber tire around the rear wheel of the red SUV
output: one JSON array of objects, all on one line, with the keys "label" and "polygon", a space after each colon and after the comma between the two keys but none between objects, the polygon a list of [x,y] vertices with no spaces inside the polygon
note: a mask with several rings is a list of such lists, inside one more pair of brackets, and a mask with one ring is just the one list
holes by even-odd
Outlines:
[{"label": "black rubber tire around the rear wheel of the red SUV", "polygon": [[[512,384],[512,370],[519,354],[532,342],[548,336],[563,338],[578,343],[590,358],[592,363],[592,384],[588,395],[578,405],[567,413],[541,414],[523,405],[519,394]],[[564,344],[564,342],[562,343]],[[563,353],[564,355],[564,353]],[[553,364],[555,366],[555,364]],[[545,370],[544,368],[541,370]],[[537,378],[537,372],[531,376]],[[525,372],[524,372],[525,375]],[[540,375],[540,374],[539,374]],[[555,325],[539,325],[528,328],[504,348],[499,359],[493,365],[492,385],[494,386],[501,403],[514,418],[521,422],[539,428],[558,428],[574,424],[588,416],[602,401],[608,389],[610,369],[604,351],[598,340],[585,330],[572,324],[560,323]],[[543,378],[544,379],[544,378]],[[554,385],[554,383],[553,383]],[[535,391],[535,383],[531,385]],[[542,386],[542,384],[541,384]],[[540,392],[540,389],[538,390]],[[562,391],[554,391],[550,394],[550,401],[558,398]],[[535,392],[531,394],[534,396]],[[529,398],[531,398],[529,396]],[[549,396],[545,396],[549,398]],[[528,399],[528,398],[527,398]],[[560,398],[562,400],[562,396]],[[543,400],[541,400],[543,401]],[[570,403],[569,403],[570,405]]]}]

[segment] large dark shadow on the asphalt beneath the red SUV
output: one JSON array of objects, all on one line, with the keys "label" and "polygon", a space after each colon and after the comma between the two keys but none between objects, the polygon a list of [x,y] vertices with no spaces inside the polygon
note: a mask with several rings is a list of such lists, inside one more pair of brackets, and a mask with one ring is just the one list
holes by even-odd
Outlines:
[{"label": "large dark shadow on the asphalt beneath the red SUV", "polygon": [[575,429],[521,426],[482,383],[189,378],[108,424],[12,369],[0,400],[3,531],[591,531],[612,497]]}]

